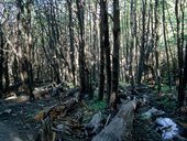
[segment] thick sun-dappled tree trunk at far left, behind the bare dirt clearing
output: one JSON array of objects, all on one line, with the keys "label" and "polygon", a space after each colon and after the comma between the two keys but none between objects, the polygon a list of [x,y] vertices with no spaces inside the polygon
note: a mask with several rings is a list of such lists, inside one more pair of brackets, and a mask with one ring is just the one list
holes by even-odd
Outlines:
[{"label": "thick sun-dappled tree trunk at far left, behind the bare dirt clearing", "polygon": [[[31,99],[34,99],[34,95],[32,93],[33,85],[33,70],[31,63],[31,50],[32,50],[32,36],[31,36],[31,9],[32,1],[26,0],[25,4],[22,0],[16,0],[16,7],[19,9],[19,13],[16,17],[18,22],[18,41],[16,41],[16,52],[18,52],[18,63],[20,67],[20,77],[23,84],[23,89],[25,93],[30,95]],[[25,11],[26,12],[25,12]],[[26,14],[26,19],[22,18],[22,14]],[[25,20],[25,21],[24,21]],[[24,39],[22,41],[22,33],[24,34]],[[23,43],[22,43],[23,42]],[[25,44],[24,47],[21,44]],[[22,48],[21,48],[22,47]]]}]

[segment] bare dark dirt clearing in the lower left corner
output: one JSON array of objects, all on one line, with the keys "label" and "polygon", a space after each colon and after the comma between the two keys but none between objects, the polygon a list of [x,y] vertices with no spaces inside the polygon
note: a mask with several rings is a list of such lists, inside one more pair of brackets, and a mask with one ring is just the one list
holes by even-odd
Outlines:
[{"label": "bare dark dirt clearing in the lower left corner", "polygon": [[34,141],[40,129],[40,122],[34,120],[34,116],[55,102],[54,98],[44,98],[34,102],[1,100],[0,141]]}]

